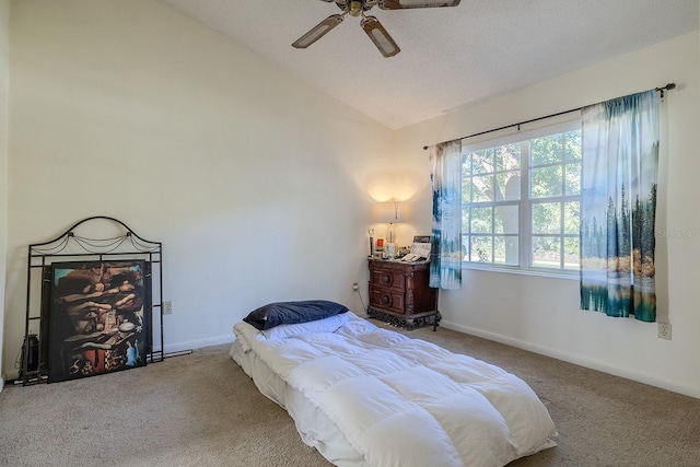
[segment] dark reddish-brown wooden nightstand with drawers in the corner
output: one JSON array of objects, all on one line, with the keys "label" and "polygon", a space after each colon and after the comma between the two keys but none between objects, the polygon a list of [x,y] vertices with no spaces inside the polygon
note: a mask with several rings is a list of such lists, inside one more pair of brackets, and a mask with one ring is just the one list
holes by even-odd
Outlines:
[{"label": "dark reddish-brown wooden nightstand with drawers in the corner", "polygon": [[430,261],[369,259],[369,264],[370,317],[409,330],[430,324],[436,329],[438,290],[428,287]]}]

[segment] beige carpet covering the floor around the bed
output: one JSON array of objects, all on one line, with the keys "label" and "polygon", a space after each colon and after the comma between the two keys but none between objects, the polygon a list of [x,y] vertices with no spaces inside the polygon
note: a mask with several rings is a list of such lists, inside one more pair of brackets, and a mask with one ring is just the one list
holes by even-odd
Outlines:
[{"label": "beige carpet covering the floor around the bed", "polygon": [[[559,446],[510,467],[699,466],[700,399],[448,329],[404,331],[525,380]],[[228,355],[196,350],[142,369],[0,394],[2,466],[328,466]]]}]

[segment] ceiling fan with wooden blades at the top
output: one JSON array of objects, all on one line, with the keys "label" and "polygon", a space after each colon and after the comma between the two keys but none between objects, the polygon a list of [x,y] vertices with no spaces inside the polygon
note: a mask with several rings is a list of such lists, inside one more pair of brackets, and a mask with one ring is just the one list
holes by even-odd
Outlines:
[{"label": "ceiling fan with wooden blades at the top", "polygon": [[342,23],[346,15],[362,16],[360,25],[370,36],[376,48],[380,49],[384,57],[394,57],[401,49],[396,42],[389,36],[382,23],[374,17],[364,14],[372,7],[380,7],[382,10],[405,10],[409,8],[432,8],[432,7],[457,7],[462,0],[320,0],[327,3],[334,2],[342,10],[341,14],[331,14],[324,21],[311,28],[310,32],[301,36],[292,47],[306,48],[330,30]]}]

